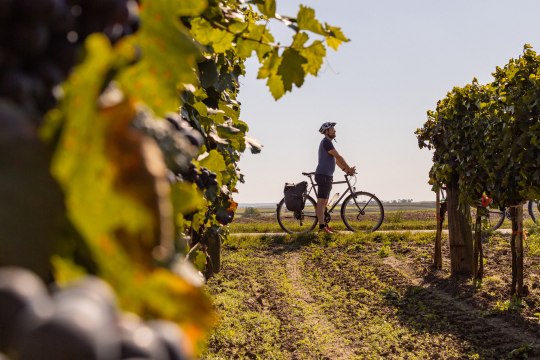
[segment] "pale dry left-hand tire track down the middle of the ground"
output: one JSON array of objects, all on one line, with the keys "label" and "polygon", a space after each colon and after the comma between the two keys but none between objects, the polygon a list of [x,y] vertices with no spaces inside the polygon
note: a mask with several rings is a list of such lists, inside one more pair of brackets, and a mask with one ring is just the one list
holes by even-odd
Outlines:
[{"label": "pale dry left-hand tire track down the middle of the ground", "polygon": [[300,255],[291,252],[285,258],[287,278],[293,286],[293,301],[302,308],[304,321],[313,330],[319,341],[320,350],[324,359],[352,359],[353,351],[345,344],[344,338],[332,322],[324,315],[311,296],[309,290],[302,283]]}]

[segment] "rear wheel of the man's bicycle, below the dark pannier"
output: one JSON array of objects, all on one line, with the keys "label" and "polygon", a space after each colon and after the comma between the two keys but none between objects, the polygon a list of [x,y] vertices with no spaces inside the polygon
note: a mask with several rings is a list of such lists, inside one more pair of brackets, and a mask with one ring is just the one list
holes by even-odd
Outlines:
[{"label": "rear wheel of the man's bicycle, below the dark pannier", "polygon": [[315,206],[315,200],[311,196],[306,196],[304,210],[290,211],[285,206],[285,199],[281,199],[277,206],[279,226],[289,234],[305,234],[312,231],[317,225]]}]

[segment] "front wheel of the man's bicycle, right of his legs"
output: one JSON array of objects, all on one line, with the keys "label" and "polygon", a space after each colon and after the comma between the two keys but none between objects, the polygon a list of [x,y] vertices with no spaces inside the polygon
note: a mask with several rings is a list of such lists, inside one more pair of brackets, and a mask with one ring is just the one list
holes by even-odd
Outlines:
[{"label": "front wheel of the man's bicycle, right of his legs", "polygon": [[384,208],[375,195],[358,191],[343,201],[341,219],[351,231],[372,232],[381,226]]}]

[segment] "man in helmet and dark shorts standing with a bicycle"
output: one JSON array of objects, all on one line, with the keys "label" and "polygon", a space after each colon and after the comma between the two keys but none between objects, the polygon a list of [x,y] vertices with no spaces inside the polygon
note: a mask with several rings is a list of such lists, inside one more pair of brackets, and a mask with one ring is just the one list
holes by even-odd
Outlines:
[{"label": "man in helmet and dark shorts standing with a bicycle", "polygon": [[336,138],[336,123],[325,122],[322,124],[319,132],[324,135],[324,138],[319,145],[319,164],[315,170],[315,182],[317,182],[317,219],[319,220],[319,231],[324,231],[332,234],[332,229],[328,226],[324,219],[324,212],[328,204],[330,190],[332,190],[332,181],[336,164],[347,175],[356,173],[356,167],[350,167],[345,159],[337,152],[332,140]]}]

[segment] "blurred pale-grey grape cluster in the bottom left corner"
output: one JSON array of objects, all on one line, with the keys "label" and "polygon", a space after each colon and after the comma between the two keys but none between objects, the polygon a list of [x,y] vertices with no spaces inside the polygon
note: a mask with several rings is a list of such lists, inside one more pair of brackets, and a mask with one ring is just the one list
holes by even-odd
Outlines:
[{"label": "blurred pale-grey grape cluster in the bottom left corner", "polygon": [[0,268],[0,352],[20,360],[190,358],[176,324],[121,313],[99,278],[51,292],[25,269]]}]

